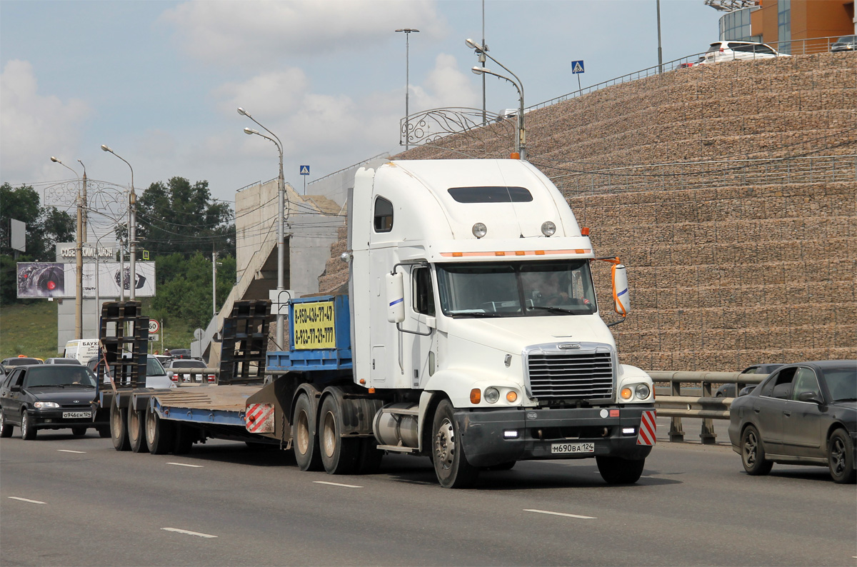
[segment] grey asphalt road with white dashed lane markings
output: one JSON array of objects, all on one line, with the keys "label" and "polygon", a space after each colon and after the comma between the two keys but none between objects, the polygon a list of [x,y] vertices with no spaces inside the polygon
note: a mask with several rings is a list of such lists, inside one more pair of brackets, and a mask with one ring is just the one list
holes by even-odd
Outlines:
[{"label": "grey asphalt road with white dashed lane markings", "polygon": [[291,451],[153,456],[39,432],[0,441],[0,519],[4,566],[857,565],[854,485],[816,467],[750,477],[724,444],[660,443],[634,486],[542,461],[452,491],[425,457],[331,476]]}]

